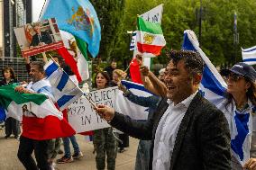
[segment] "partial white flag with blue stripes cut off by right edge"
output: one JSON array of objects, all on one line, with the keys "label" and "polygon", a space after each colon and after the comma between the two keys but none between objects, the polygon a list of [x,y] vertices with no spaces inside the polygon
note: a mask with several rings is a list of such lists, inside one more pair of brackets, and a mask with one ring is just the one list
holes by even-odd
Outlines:
[{"label": "partial white flag with blue stripes cut off by right edge", "polygon": [[256,64],[256,46],[242,49],[242,61],[248,65]]}]

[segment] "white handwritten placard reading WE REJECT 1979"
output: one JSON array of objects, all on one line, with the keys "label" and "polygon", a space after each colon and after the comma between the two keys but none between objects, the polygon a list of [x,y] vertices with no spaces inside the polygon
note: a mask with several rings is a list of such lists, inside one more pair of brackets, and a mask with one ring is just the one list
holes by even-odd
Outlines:
[{"label": "white handwritten placard reading WE REJECT 1979", "polygon": [[[117,90],[117,86],[96,90],[87,94],[87,97],[96,105],[105,104],[114,108]],[[69,105],[68,119],[77,133],[109,127],[109,124],[95,112],[85,96]]]}]

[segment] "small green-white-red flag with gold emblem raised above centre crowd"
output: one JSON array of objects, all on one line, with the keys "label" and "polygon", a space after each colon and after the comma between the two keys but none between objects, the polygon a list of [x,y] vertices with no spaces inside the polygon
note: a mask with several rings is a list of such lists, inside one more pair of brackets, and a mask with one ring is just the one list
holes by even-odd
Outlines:
[{"label": "small green-white-red flag with gold emblem raised above centre crowd", "polygon": [[166,45],[160,23],[147,22],[142,17],[137,18],[137,48],[142,53],[159,56],[161,49]]}]

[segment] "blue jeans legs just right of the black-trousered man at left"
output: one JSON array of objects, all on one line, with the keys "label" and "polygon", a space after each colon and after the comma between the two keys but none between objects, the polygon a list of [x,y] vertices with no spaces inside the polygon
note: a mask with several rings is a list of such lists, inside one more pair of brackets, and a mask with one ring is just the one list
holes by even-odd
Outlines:
[{"label": "blue jeans legs just right of the black-trousered man at left", "polygon": [[70,141],[72,143],[72,146],[74,148],[74,153],[78,154],[78,152],[80,152],[78,142],[77,142],[77,139],[76,139],[75,135],[73,135],[71,137],[67,137],[67,138],[62,138],[63,145],[64,145],[64,151],[65,151],[65,157],[71,157],[71,152],[70,152],[70,147],[69,147],[69,139],[70,139]]}]

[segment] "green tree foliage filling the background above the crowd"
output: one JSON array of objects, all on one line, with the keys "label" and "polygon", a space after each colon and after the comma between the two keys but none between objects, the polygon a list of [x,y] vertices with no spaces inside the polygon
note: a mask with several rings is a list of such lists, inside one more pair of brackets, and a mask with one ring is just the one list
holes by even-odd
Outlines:
[{"label": "green tree foliage filling the background above the crowd", "polygon": [[[120,3],[119,3],[120,2]],[[187,29],[199,34],[198,10],[200,0],[108,0],[92,1],[102,25],[100,56],[116,58],[123,67],[132,58],[127,31],[136,30],[136,16],[164,4],[162,29],[167,40],[166,49],[180,49],[183,32]],[[202,36],[200,46],[206,56],[218,66],[233,65],[242,61],[241,47],[256,45],[255,0],[202,0]],[[237,58],[233,44],[233,14],[237,13],[240,43]],[[131,37],[130,37],[131,38]],[[163,50],[164,51],[164,50]],[[166,63],[167,58],[154,58],[154,62]]]}]

